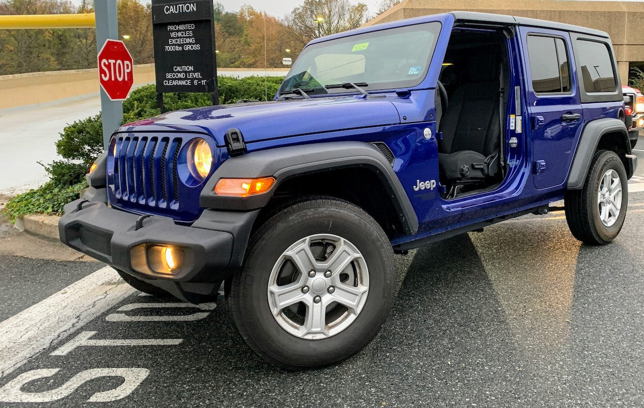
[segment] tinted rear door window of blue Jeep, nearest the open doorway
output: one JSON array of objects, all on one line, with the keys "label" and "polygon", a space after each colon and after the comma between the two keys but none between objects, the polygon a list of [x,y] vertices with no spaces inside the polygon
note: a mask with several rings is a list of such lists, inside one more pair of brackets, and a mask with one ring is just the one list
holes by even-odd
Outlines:
[{"label": "tinted rear door window of blue Jeep, nearest the open doorway", "polygon": [[563,39],[528,35],[527,53],[535,93],[571,91],[568,53]]}]

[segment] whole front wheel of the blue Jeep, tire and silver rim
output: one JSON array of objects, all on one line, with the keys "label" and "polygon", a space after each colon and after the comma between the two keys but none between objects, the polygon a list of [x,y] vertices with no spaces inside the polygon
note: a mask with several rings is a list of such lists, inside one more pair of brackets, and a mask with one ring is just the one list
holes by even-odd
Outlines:
[{"label": "whole front wheel of the blue Jeep, tire and silver rim", "polygon": [[240,334],[265,360],[325,366],[363,348],[393,299],[392,247],[366,212],[334,198],[281,210],[252,237],[232,279]]}]

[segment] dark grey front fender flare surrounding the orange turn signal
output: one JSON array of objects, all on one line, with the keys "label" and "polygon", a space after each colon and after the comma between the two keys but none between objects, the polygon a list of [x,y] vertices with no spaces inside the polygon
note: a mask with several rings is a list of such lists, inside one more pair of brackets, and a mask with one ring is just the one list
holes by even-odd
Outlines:
[{"label": "dark grey front fender flare surrounding the orange turn signal", "polygon": [[[205,183],[199,203],[216,210],[249,211],[265,207],[279,184],[289,178],[348,167],[362,167],[375,172],[387,190],[410,235],[418,231],[418,218],[398,176],[383,154],[365,142],[326,142],[276,147],[229,158]],[[258,178],[273,176],[275,185],[264,194],[250,197],[217,196],[214,186],[222,178]]]}]

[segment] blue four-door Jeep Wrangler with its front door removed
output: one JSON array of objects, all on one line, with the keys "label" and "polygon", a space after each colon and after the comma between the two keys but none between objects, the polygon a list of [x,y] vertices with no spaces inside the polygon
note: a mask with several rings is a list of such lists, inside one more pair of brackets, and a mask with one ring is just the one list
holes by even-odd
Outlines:
[{"label": "blue four-door Jeep Wrangler with its front door removed", "polygon": [[275,99],[124,125],[60,221],[131,286],[189,302],[223,283],[261,357],[291,369],[363,348],[393,253],[564,199],[611,242],[636,167],[607,33],[453,12],[311,41]]}]

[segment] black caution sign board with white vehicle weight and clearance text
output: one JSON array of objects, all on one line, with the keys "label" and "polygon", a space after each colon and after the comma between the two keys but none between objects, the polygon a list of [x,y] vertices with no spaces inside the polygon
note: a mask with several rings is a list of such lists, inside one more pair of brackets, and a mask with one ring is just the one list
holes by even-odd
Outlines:
[{"label": "black caution sign board with white vehicle weight and clearance text", "polygon": [[152,0],[156,91],[217,92],[211,0]]}]

